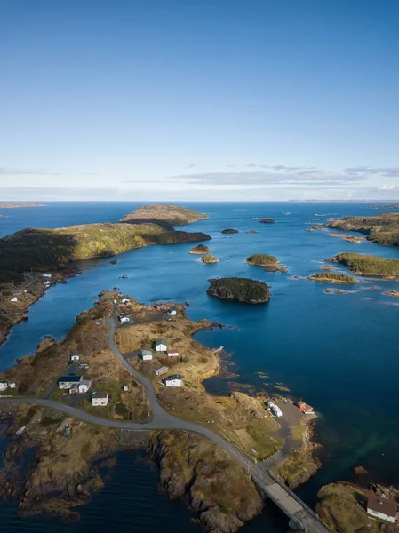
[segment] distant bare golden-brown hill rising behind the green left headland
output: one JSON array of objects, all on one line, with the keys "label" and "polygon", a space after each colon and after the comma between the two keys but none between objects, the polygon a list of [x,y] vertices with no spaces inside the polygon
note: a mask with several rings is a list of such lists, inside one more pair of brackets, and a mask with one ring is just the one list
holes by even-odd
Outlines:
[{"label": "distant bare golden-brown hill rising behind the green left headland", "polygon": [[192,211],[186,207],[180,207],[180,205],[172,205],[165,203],[154,203],[150,205],[143,205],[139,209],[136,209],[124,216],[122,222],[130,222],[134,219],[143,220],[156,220],[167,222],[172,226],[185,226],[196,222],[196,220],[209,219],[208,215]]}]

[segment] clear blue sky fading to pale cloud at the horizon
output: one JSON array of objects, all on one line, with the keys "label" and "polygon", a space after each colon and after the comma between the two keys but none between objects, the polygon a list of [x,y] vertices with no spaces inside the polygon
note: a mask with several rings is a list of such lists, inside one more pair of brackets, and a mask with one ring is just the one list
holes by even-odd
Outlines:
[{"label": "clear blue sky fading to pale cloud at the horizon", "polygon": [[399,198],[397,0],[0,0],[0,199]]}]

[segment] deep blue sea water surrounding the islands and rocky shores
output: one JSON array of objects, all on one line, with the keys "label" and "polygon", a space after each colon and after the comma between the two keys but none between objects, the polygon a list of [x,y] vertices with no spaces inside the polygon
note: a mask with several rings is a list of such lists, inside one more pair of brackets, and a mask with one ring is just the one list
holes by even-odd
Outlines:
[{"label": "deep blue sea water surrounding the islands and rocky shores", "polygon": [[[7,215],[0,219],[0,235],[11,234],[23,227],[62,227],[114,221],[139,204],[48,203],[40,208],[0,210],[0,214]],[[329,295],[323,292],[328,285],[307,279],[291,279],[294,275],[307,276],[317,272],[323,259],[340,251],[399,259],[397,249],[367,242],[345,243],[328,237],[324,232],[305,231],[309,225],[323,222],[331,216],[367,215],[379,211],[363,209],[361,204],[186,205],[210,215],[209,220],[196,222],[188,228],[212,236],[209,245],[212,253],[219,257],[217,265],[203,265],[196,256],[189,255],[190,244],[129,251],[118,257],[115,266],[109,264],[109,259],[87,262],[87,269],[82,274],[69,280],[67,285],[48,290],[44,298],[32,307],[28,322],[12,330],[9,340],[0,347],[0,368],[4,369],[12,365],[17,357],[33,352],[45,334],[63,338],[76,314],[92,306],[100,290],[117,285],[147,303],[163,298],[178,301],[188,298],[191,302],[188,314],[193,320],[205,317],[239,328],[239,331],[203,331],[196,336],[207,346],[222,344],[233,354],[240,374],[239,381],[261,387],[262,382],[256,372],[266,372],[269,382],[283,382],[292,394],[304,398],[320,413],[318,438],[324,446],[323,455],[331,458],[324,462],[312,481],[299,489],[301,497],[312,503],[317,489],[324,483],[352,479],[355,465],[366,467],[373,481],[398,483],[399,301],[383,296],[382,292],[399,290],[399,282],[363,280],[362,284],[355,286],[354,293]],[[271,217],[276,224],[259,224],[253,217]],[[235,227],[241,233],[221,235],[220,231],[226,227]],[[244,231],[249,229],[256,229],[259,233],[245,234]],[[245,265],[245,258],[257,252],[275,255],[289,267],[289,273],[266,273],[261,268]],[[122,274],[128,274],[129,278],[118,279]],[[243,306],[206,294],[208,278],[232,275],[267,282],[273,294],[270,302],[266,306]],[[376,284],[380,290],[367,290]],[[142,463],[134,461],[129,454],[120,457],[106,488],[84,507],[81,523],[84,523],[84,516],[92,516],[92,513],[101,521],[104,506],[96,503],[102,501],[101,497],[114,501],[122,491],[123,497],[126,497],[126,488],[134,497],[137,488],[132,479],[136,474],[125,474],[126,469],[119,466],[124,461],[129,462],[132,472],[136,472],[136,468],[137,475],[140,473],[147,480],[146,490],[156,502],[154,505],[160,505],[164,513],[179,515],[184,530],[198,529],[189,521],[186,507],[183,504],[174,506],[176,503],[163,499],[156,492],[156,475],[151,478],[150,471],[142,470]],[[153,481],[148,481],[151,479]],[[146,530],[140,529],[140,523],[145,523],[148,508],[136,508],[133,503],[132,506],[135,507],[135,513],[130,516],[133,530]],[[6,511],[10,527],[14,527],[17,519],[13,507],[7,505],[2,511]],[[114,514],[114,520],[117,516],[117,513]],[[118,531],[126,530],[123,516],[122,513],[120,523],[116,518]],[[257,520],[267,524],[267,528],[274,523],[276,531],[284,530],[283,527],[279,529],[278,521],[267,514]],[[260,526],[260,522],[257,525],[258,522],[253,521],[243,530],[265,529],[263,522]],[[36,530],[36,521],[23,523],[24,530]],[[63,530],[55,519],[46,519],[45,523],[46,527],[52,524],[53,531]],[[151,526],[150,530],[166,531],[164,525],[160,527]]]}]

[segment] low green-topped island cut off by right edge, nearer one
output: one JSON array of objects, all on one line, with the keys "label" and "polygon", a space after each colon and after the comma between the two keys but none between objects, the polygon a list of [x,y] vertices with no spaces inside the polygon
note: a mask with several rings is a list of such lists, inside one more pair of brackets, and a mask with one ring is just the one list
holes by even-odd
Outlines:
[{"label": "low green-topped island cut off by right edge, nearer one", "polygon": [[339,253],[331,262],[345,265],[354,274],[399,277],[399,261],[360,253]]}]

